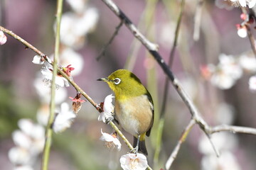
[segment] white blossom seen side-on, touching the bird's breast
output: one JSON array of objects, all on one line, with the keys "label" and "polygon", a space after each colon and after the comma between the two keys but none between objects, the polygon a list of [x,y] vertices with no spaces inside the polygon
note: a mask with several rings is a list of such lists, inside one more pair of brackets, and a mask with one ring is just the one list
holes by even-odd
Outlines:
[{"label": "white blossom seen side-on, touching the bird's breast", "polygon": [[100,113],[98,120],[103,121],[104,123],[107,123],[114,119],[114,106],[112,105],[112,101],[114,96],[112,94],[105,97],[104,103],[103,103],[103,112]]}]

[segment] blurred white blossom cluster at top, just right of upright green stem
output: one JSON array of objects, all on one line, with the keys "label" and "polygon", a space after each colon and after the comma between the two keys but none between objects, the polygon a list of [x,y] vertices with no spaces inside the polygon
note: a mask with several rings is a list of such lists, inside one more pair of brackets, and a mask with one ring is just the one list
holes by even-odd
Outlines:
[{"label": "blurred white blossom cluster at top, just right of upright green stem", "polygon": [[[85,0],[66,0],[71,10],[63,13],[60,23],[60,62],[75,67],[73,76],[82,72],[83,60],[77,50],[86,43],[86,35],[97,26],[97,8],[89,6]],[[54,27],[55,28],[55,27]]]}]

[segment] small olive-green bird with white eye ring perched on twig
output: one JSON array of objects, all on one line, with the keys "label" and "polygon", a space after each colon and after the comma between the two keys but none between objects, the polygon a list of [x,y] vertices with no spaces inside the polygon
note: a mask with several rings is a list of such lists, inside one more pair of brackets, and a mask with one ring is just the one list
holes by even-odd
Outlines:
[{"label": "small olive-green bird with white eye ring perched on twig", "polygon": [[117,69],[105,81],[114,92],[114,118],[134,136],[132,152],[148,155],[145,138],[149,137],[154,123],[154,103],[140,79],[127,69]]}]

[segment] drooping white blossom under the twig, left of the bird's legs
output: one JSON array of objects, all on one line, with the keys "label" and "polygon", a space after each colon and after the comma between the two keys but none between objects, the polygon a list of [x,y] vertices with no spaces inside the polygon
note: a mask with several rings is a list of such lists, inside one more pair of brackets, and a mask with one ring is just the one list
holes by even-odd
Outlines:
[{"label": "drooping white blossom under the twig, left of the bird's legs", "polygon": [[102,129],[100,130],[102,133],[102,136],[100,137],[100,140],[105,141],[105,146],[107,148],[114,148],[117,147],[117,150],[120,151],[121,149],[121,143],[119,142],[119,140],[117,139],[117,134],[116,133],[112,133],[112,134],[108,134],[106,132],[102,132]]}]

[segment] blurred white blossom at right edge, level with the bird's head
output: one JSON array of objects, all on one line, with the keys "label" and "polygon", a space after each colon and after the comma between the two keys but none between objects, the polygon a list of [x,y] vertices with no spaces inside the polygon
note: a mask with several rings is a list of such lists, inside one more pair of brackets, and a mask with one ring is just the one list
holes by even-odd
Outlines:
[{"label": "blurred white blossom at right edge, level with the bird's head", "polygon": [[241,55],[239,64],[247,72],[256,72],[256,58],[248,55]]}]

